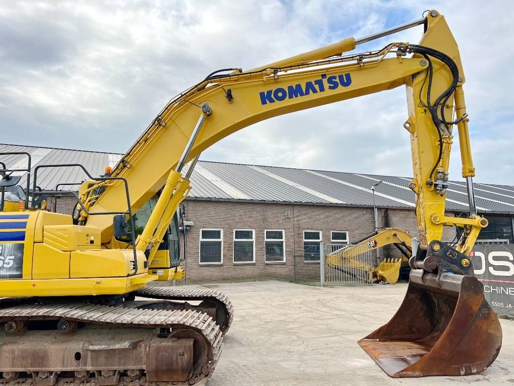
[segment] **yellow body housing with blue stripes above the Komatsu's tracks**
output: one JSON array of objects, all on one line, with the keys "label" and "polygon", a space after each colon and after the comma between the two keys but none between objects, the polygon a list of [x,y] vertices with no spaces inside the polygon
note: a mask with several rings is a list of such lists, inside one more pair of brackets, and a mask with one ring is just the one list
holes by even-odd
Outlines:
[{"label": "yellow body housing with blue stripes above the Komatsu's tracks", "polygon": [[135,272],[132,250],[102,249],[100,230],[73,225],[69,215],[0,213],[0,239],[1,296],[123,294],[154,279],[144,268],[142,252]]}]

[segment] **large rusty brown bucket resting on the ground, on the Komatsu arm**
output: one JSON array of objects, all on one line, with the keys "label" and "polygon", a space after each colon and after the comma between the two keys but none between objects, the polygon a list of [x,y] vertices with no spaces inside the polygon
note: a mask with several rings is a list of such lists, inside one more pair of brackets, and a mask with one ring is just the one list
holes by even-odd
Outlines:
[{"label": "large rusty brown bucket resting on the ground, on the Komatsu arm", "polygon": [[393,319],[359,344],[394,378],[468,375],[498,356],[502,330],[476,277],[412,270]]}]

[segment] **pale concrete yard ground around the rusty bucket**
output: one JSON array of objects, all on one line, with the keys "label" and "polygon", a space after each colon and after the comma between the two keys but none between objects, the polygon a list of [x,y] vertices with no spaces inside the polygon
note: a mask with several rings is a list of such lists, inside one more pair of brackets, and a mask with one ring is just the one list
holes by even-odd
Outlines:
[{"label": "pale concrete yard ground around the rusty bucket", "polygon": [[514,384],[514,321],[489,369],[468,377],[393,379],[357,340],[389,321],[407,290],[396,286],[319,288],[284,282],[205,286],[232,297],[236,314],[209,386]]}]

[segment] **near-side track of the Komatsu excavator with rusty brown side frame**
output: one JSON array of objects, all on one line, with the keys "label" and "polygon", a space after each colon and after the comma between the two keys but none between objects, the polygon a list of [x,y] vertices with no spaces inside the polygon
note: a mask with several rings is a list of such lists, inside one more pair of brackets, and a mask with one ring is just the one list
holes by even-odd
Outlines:
[{"label": "near-side track of the Komatsu excavator with rusty brown side frame", "polygon": [[223,347],[206,313],[138,302],[2,299],[0,323],[0,386],[201,385]]}]

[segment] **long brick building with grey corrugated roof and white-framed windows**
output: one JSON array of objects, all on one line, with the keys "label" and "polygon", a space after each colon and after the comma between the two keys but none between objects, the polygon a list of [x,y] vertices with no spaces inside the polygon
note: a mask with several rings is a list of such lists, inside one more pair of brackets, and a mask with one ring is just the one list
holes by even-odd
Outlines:
[{"label": "long brick building with grey corrugated roof and white-framed windows", "polygon": [[[0,145],[0,152],[8,151],[33,154],[33,166],[81,163],[93,175],[101,174],[107,165],[114,166],[121,156]],[[83,179],[82,173],[58,168],[42,173],[38,181],[43,189],[52,189],[58,183]],[[191,182],[190,197],[183,203],[189,231],[180,236],[182,258],[186,245],[182,266],[187,270],[187,283],[315,280],[320,242],[349,243],[375,230],[373,201],[379,226],[399,227],[417,236],[409,178],[200,161]],[[373,184],[377,184],[375,197]],[[476,183],[475,195],[480,214],[490,222],[481,237],[512,243],[514,187]],[[61,213],[71,213],[73,206],[69,197],[49,200],[49,207]],[[455,216],[467,212],[464,183],[451,183],[447,211]],[[445,229],[444,240],[454,236],[453,228]],[[379,258],[397,254],[385,249]]]}]

